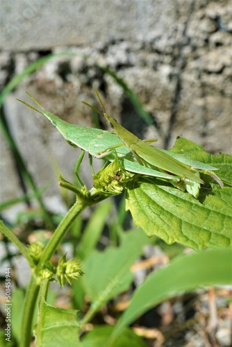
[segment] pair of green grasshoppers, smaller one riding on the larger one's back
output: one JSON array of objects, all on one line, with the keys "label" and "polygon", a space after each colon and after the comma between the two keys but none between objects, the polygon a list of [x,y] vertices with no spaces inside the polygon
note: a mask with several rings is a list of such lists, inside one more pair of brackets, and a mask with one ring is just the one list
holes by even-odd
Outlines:
[{"label": "pair of green grasshoppers, smaller one riding on the larger one's back", "polygon": [[[103,103],[96,88],[95,92],[103,108]],[[196,183],[199,185],[204,183],[201,178],[197,176],[198,171],[196,169],[208,171],[217,170],[210,165],[190,160],[184,155],[177,155],[169,151],[149,146],[149,144],[143,142],[130,133],[129,130],[126,130],[123,126],[118,124],[115,119],[105,112],[104,108],[103,116],[106,117],[110,125],[113,126],[116,135],[106,130],[69,124],[47,110],[44,110],[42,105],[40,105],[31,94],[27,94],[38,105],[40,110],[24,101],[19,101],[47,117],[47,119],[51,121],[51,124],[58,128],[69,144],[78,146],[84,151],[88,151],[88,153],[95,158],[102,158],[105,156],[109,161],[115,159],[116,153],[122,167],[126,171],[171,180],[174,185],[179,186],[181,180],[185,180],[187,184]],[[93,108],[88,103],[85,104]],[[93,109],[101,113],[99,110]]]}]

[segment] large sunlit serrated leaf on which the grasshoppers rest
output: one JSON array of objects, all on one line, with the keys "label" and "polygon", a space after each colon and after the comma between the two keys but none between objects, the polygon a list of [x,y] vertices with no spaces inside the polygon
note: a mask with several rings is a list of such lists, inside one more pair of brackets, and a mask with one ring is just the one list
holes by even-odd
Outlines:
[{"label": "large sunlit serrated leaf on which the grasshoppers rest", "polygon": [[[192,159],[221,168],[217,176],[231,183],[230,155],[210,155],[201,146],[185,139],[179,139],[174,150],[188,155],[188,145]],[[196,250],[229,246],[232,239],[232,189],[226,185],[219,187],[208,174],[203,174],[202,178],[206,185],[201,187],[196,199],[169,183],[138,177],[137,182],[126,187],[126,210],[131,211],[135,226],[139,225],[149,237],[157,235],[167,244],[179,242]]]}]

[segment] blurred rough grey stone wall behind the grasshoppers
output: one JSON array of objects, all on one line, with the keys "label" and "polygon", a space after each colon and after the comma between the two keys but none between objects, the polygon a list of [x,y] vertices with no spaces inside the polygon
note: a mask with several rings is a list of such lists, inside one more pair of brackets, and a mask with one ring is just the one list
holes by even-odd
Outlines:
[{"label": "blurred rough grey stone wall behind the grasshoppers", "polygon": [[[78,155],[46,119],[15,101],[16,97],[28,101],[25,90],[70,123],[93,126],[90,110],[80,101],[97,105],[94,84],[108,113],[136,135],[157,137],[158,146],[168,148],[181,135],[211,153],[231,153],[230,1],[1,3],[1,87],[44,50],[43,54],[69,47],[76,52],[47,62],[6,99],[10,128],[36,182],[41,186],[53,181],[47,196],[58,194],[54,162],[72,180]],[[83,53],[91,59],[83,58]],[[95,62],[124,78],[151,114],[154,126],[147,127],[122,88]],[[106,128],[104,119],[100,121]],[[3,201],[14,192],[21,194],[5,148],[3,144]],[[83,173],[87,171],[86,166]]]}]

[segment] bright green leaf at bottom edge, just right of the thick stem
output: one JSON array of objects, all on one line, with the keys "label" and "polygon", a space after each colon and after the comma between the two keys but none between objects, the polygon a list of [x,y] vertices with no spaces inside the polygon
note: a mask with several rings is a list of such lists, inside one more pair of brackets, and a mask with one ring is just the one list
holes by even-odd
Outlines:
[{"label": "bright green leaf at bottom edge, just right of the thick stem", "polygon": [[[77,311],[64,310],[53,307],[46,302],[42,303],[40,329],[37,328],[36,341],[40,347],[78,347],[79,327]],[[38,331],[40,331],[38,333]]]}]

